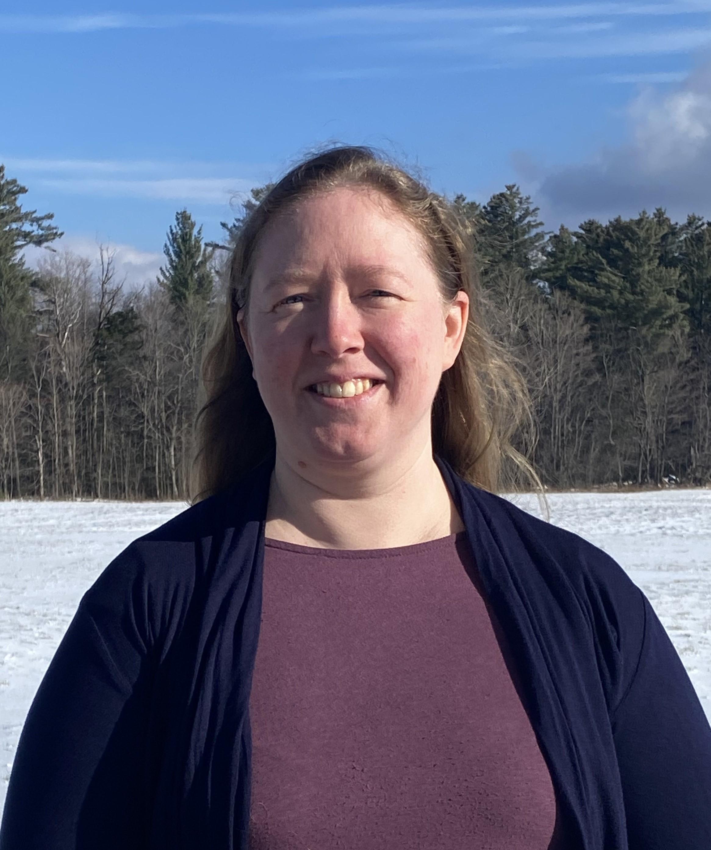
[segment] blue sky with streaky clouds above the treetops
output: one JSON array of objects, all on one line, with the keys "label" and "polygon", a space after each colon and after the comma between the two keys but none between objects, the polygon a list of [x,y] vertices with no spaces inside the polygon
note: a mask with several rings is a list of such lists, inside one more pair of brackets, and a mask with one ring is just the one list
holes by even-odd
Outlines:
[{"label": "blue sky with streaky clouds above the treetops", "polygon": [[549,229],[711,216],[711,0],[352,5],[6,0],[0,161],[62,242],[155,274],[315,145],[372,144],[432,188],[533,195]]}]

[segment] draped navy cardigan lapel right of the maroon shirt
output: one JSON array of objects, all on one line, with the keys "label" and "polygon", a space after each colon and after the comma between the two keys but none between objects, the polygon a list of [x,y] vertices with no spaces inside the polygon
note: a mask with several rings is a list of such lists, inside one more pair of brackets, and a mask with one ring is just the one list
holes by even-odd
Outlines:
[{"label": "draped navy cardigan lapel right of the maroon shirt", "polygon": [[[604,826],[615,801],[610,793],[607,754],[597,752],[607,744],[595,738],[600,705],[590,706],[587,694],[586,686],[590,676],[594,681],[595,669],[578,666],[579,632],[573,627],[570,632],[578,637],[571,640],[566,631],[572,619],[570,611],[579,609],[573,589],[564,576],[556,575],[557,564],[545,564],[548,573],[541,573],[539,553],[532,557],[509,513],[497,506],[499,497],[468,484],[443,458],[436,457],[435,461],[460,510],[488,603],[514,656],[522,683],[522,703],[556,791],[561,821],[556,833],[560,829],[566,846],[580,850],[626,850],[624,817],[621,825],[619,819],[608,825],[614,843],[610,843],[612,835]],[[541,549],[545,551],[545,546]],[[558,600],[550,593],[551,573]],[[561,597],[565,599],[565,612],[561,612]],[[576,625],[580,625],[579,620]],[[592,651],[589,660],[592,664]]]}]

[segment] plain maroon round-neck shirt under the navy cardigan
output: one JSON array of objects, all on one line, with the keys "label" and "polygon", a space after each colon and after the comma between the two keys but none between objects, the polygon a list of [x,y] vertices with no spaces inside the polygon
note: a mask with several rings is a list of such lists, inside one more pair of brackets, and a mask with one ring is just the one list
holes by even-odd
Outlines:
[{"label": "plain maroon round-neck shirt under the navy cardigan", "polygon": [[516,681],[466,531],[351,551],[267,539],[251,850],[553,847]]}]

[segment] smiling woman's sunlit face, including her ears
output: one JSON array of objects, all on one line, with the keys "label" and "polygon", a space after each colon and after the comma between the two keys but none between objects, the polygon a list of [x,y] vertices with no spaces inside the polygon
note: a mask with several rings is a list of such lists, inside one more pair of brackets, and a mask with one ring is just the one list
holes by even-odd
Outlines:
[{"label": "smiling woman's sunlit face, including her ears", "polygon": [[[301,467],[416,456],[467,314],[465,292],[443,305],[417,231],[382,195],[330,190],[278,213],[238,322],[280,454]],[[358,392],[358,378],[376,383],[314,389]]]}]

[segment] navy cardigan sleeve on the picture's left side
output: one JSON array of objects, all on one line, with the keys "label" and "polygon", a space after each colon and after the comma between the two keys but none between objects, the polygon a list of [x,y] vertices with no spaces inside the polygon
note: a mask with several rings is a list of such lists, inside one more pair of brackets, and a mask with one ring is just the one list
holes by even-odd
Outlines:
[{"label": "navy cardigan sleeve on the picture's left side", "polygon": [[15,753],[0,850],[146,847],[147,623],[129,547],[82,597]]}]

